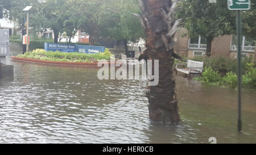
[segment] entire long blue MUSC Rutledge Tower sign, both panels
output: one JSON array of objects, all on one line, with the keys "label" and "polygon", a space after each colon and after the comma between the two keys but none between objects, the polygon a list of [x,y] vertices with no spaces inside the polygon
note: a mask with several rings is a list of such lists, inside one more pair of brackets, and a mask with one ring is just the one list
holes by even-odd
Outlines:
[{"label": "entire long blue MUSC Rutledge Tower sign, both panels", "polygon": [[79,53],[96,54],[96,53],[103,53],[105,51],[105,47],[44,43],[44,50],[53,51],[53,52],[60,51],[60,52],[79,52]]}]

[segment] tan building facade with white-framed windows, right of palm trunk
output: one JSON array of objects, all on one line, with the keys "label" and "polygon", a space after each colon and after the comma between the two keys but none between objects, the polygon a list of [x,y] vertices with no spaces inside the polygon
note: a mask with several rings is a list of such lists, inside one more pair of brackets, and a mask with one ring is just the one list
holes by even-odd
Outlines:
[{"label": "tan building facade with white-framed windows, right of palm trunk", "polygon": [[[193,58],[203,56],[207,49],[207,40],[197,36],[189,38],[184,36],[187,30],[181,28],[176,33],[175,52],[183,57]],[[214,57],[225,56],[230,58],[237,57],[237,39],[236,35],[224,35],[216,37],[212,41],[211,55]],[[242,40],[242,57],[254,57],[256,59],[255,40],[250,40],[243,36]]]}]

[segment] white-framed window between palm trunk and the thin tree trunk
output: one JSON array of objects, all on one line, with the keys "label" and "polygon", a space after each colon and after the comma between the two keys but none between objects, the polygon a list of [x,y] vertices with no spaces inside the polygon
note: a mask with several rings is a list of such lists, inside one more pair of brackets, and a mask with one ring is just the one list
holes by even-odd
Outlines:
[{"label": "white-framed window between palm trunk and the thin tree trunk", "polygon": [[206,49],[207,39],[204,39],[201,36],[191,37],[188,47],[192,49]]}]

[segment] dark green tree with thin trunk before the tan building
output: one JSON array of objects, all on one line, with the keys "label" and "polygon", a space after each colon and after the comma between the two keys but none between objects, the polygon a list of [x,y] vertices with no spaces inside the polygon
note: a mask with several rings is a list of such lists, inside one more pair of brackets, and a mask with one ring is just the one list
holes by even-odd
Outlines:
[{"label": "dark green tree with thin trunk before the tan building", "polygon": [[235,12],[228,10],[226,1],[209,3],[205,0],[183,0],[177,18],[189,37],[200,35],[207,39],[207,56],[210,56],[214,37],[230,35],[236,30]]}]

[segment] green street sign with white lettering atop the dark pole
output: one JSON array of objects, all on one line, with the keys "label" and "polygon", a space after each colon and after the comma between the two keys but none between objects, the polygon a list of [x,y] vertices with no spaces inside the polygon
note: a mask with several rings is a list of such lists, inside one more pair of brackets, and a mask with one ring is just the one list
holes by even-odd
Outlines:
[{"label": "green street sign with white lettering atop the dark pole", "polygon": [[250,0],[228,0],[229,10],[249,10],[251,9]]}]

